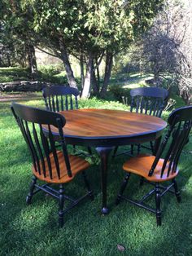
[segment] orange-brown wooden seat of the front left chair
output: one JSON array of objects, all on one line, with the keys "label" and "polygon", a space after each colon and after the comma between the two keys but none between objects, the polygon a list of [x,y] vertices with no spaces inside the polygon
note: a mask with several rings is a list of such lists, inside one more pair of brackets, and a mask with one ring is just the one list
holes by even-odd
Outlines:
[{"label": "orange-brown wooden seat of the front left chair", "polygon": [[54,161],[54,156],[53,153],[50,153],[50,165],[52,169],[52,179],[50,179],[50,173],[49,173],[49,168],[48,168],[48,163],[46,161],[46,158],[44,158],[45,161],[45,166],[46,166],[46,177],[44,177],[44,174],[42,173],[42,163],[40,162],[40,167],[41,167],[41,174],[39,174],[34,166],[32,166],[33,174],[37,177],[37,179],[41,179],[45,181],[46,183],[68,183],[70,182],[76,174],[81,172],[82,170],[87,169],[90,164],[88,161],[85,161],[81,157],[76,157],[69,155],[69,161],[71,165],[71,170],[72,170],[72,177],[68,177],[68,170],[65,165],[64,157],[63,157],[63,152],[57,151],[57,156],[59,160],[59,169],[60,169],[60,179],[58,178],[57,175],[57,170],[55,166],[55,161]]}]

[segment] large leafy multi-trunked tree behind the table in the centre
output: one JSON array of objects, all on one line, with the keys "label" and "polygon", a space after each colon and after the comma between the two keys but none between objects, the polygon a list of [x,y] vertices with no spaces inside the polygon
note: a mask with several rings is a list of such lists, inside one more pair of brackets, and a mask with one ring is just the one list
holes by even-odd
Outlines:
[{"label": "large leafy multi-trunked tree behind the table in the centre", "polygon": [[[113,56],[149,27],[162,2],[28,0],[23,1],[23,7],[33,9],[33,29],[41,44],[63,60],[70,86],[76,87],[76,80],[69,55],[80,60],[82,96],[88,97],[91,81],[94,92],[105,95]],[[106,68],[100,88],[99,65],[104,57]]]}]

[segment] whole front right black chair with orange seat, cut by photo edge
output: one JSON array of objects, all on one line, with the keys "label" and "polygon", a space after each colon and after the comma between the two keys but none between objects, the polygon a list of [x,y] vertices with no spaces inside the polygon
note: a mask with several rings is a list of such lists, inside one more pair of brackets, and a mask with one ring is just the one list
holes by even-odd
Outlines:
[{"label": "whole front right black chair with orange seat, cut by photo edge", "polygon": [[[123,169],[128,174],[125,176],[124,182],[120,188],[120,193],[116,199],[116,205],[118,205],[121,200],[125,200],[155,213],[157,225],[161,225],[161,197],[164,196],[166,192],[172,192],[177,196],[177,201],[181,201],[181,195],[178,191],[175,178],[179,173],[177,165],[181,151],[185,143],[189,141],[192,126],[192,106],[178,108],[173,111],[168,117],[168,125],[168,133],[164,136],[164,140],[159,146],[156,157],[141,154],[137,157],[130,158],[129,161],[124,163]],[[162,155],[164,155],[164,158]],[[143,196],[141,201],[133,201],[133,199],[123,196],[131,173],[137,174],[147,183],[155,185],[155,188]],[[168,186],[160,185],[160,183],[162,184],[164,182],[170,182],[170,184]],[[174,191],[172,191],[172,187]],[[144,201],[154,193],[155,209],[144,203]]]}]

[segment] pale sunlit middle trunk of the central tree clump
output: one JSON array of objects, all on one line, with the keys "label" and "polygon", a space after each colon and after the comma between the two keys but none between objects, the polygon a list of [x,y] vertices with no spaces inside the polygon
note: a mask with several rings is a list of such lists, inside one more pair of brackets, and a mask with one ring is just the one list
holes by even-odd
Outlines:
[{"label": "pale sunlit middle trunk of the central tree clump", "polygon": [[90,93],[91,78],[93,76],[93,54],[89,52],[89,59],[87,62],[87,71],[85,75],[85,82],[82,90],[82,98],[88,98]]}]

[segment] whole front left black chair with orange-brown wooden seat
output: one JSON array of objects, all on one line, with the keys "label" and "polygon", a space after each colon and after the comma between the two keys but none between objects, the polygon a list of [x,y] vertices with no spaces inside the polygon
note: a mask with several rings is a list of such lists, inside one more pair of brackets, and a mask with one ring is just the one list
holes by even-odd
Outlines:
[{"label": "whole front left black chair with orange-brown wooden seat", "polygon": [[[85,169],[89,167],[89,162],[81,157],[68,155],[65,139],[63,137],[63,126],[65,118],[59,113],[53,113],[38,108],[31,108],[20,104],[12,103],[12,113],[18,126],[24,136],[28,149],[33,160],[33,181],[31,183],[26,201],[31,203],[32,197],[39,191],[46,192],[59,200],[59,227],[63,227],[63,214],[72,209],[86,196],[93,199],[92,191],[85,176]],[[47,126],[47,133],[42,125]],[[50,126],[55,126],[59,130],[59,142],[61,150],[55,148],[55,138],[51,132]],[[88,192],[79,199],[72,199],[65,195],[63,185],[72,182],[76,174],[82,173],[85,186]],[[43,185],[37,184],[37,179],[41,180]],[[59,189],[51,185],[58,185]],[[64,201],[71,201],[68,208],[63,210]]]}]

